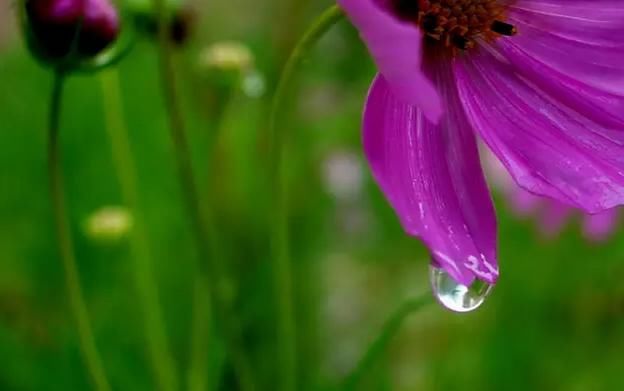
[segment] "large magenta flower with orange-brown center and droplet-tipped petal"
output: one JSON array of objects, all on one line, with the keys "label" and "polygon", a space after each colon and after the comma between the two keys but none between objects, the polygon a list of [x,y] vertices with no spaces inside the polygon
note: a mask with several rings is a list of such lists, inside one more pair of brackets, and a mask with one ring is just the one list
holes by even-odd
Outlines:
[{"label": "large magenta flower with orange-brown center and droplet-tipped petal", "polygon": [[373,176],[456,282],[499,274],[476,135],[533,194],[623,203],[623,1],[338,3],[380,72],[363,121]]}]

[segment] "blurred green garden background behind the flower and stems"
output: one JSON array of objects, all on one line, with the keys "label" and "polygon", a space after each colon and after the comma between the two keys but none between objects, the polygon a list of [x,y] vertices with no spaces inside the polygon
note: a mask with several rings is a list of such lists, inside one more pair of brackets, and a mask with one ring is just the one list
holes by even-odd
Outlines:
[{"label": "blurred green garden background behind the flower and stems", "polygon": [[[15,3],[0,4],[0,390],[87,390],[48,197],[52,76],[26,51],[13,23]],[[216,211],[242,350],[258,390],[276,389],[283,375],[275,358],[280,336],[268,245],[270,97],[289,50],[329,5],[179,5],[192,10],[192,33],[175,50],[192,159],[202,202]],[[223,41],[252,55],[242,78],[207,60],[207,48]],[[342,389],[384,321],[406,300],[430,295],[427,251],[403,233],[363,159],[361,107],[374,72],[343,21],[297,71],[281,114],[291,137],[298,390]],[[113,389],[157,389],[128,243],[132,219],[141,216],[180,388],[187,388],[196,252],[149,36],[139,36],[117,76],[137,163],[137,211],[124,205],[107,130],[110,73],[71,77],[66,89],[63,166],[80,275]],[[405,319],[357,389],[624,388],[622,231],[589,243],[573,220],[545,237],[498,194],[496,204],[502,277],[491,297],[461,315],[430,300]],[[206,389],[235,390],[222,337],[210,337]]]}]

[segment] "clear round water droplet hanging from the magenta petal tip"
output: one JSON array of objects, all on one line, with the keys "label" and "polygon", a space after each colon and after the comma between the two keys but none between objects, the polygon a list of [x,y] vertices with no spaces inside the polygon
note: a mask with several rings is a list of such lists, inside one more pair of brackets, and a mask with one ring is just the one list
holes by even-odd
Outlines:
[{"label": "clear round water droplet hanging from the magenta petal tip", "polygon": [[433,295],[444,307],[455,312],[474,311],[490,294],[494,285],[474,280],[470,286],[456,282],[444,269],[429,266]]}]

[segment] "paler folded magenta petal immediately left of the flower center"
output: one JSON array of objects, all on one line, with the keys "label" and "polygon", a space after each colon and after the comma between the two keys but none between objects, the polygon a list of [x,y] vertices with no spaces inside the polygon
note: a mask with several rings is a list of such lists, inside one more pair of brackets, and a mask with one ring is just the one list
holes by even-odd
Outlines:
[{"label": "paler folded magenta petal immediately left of the flower center", "polygon": [[400,21],[373,0],[338,0],[338,4],[359,30],[396,96],[421,108],[430,121],[439,121],[442,105],[421,69],[422,33],[418,27]]}]

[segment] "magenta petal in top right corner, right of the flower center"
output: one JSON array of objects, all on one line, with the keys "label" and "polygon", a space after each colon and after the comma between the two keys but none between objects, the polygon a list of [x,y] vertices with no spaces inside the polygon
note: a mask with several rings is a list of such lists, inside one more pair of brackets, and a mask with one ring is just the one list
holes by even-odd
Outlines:
[{"label": "magenta petal in top right corner, right of the flower center", "polygon": [[530,82],[588,118],[624,127],[624,2],[524,0],[497,47]]}]

